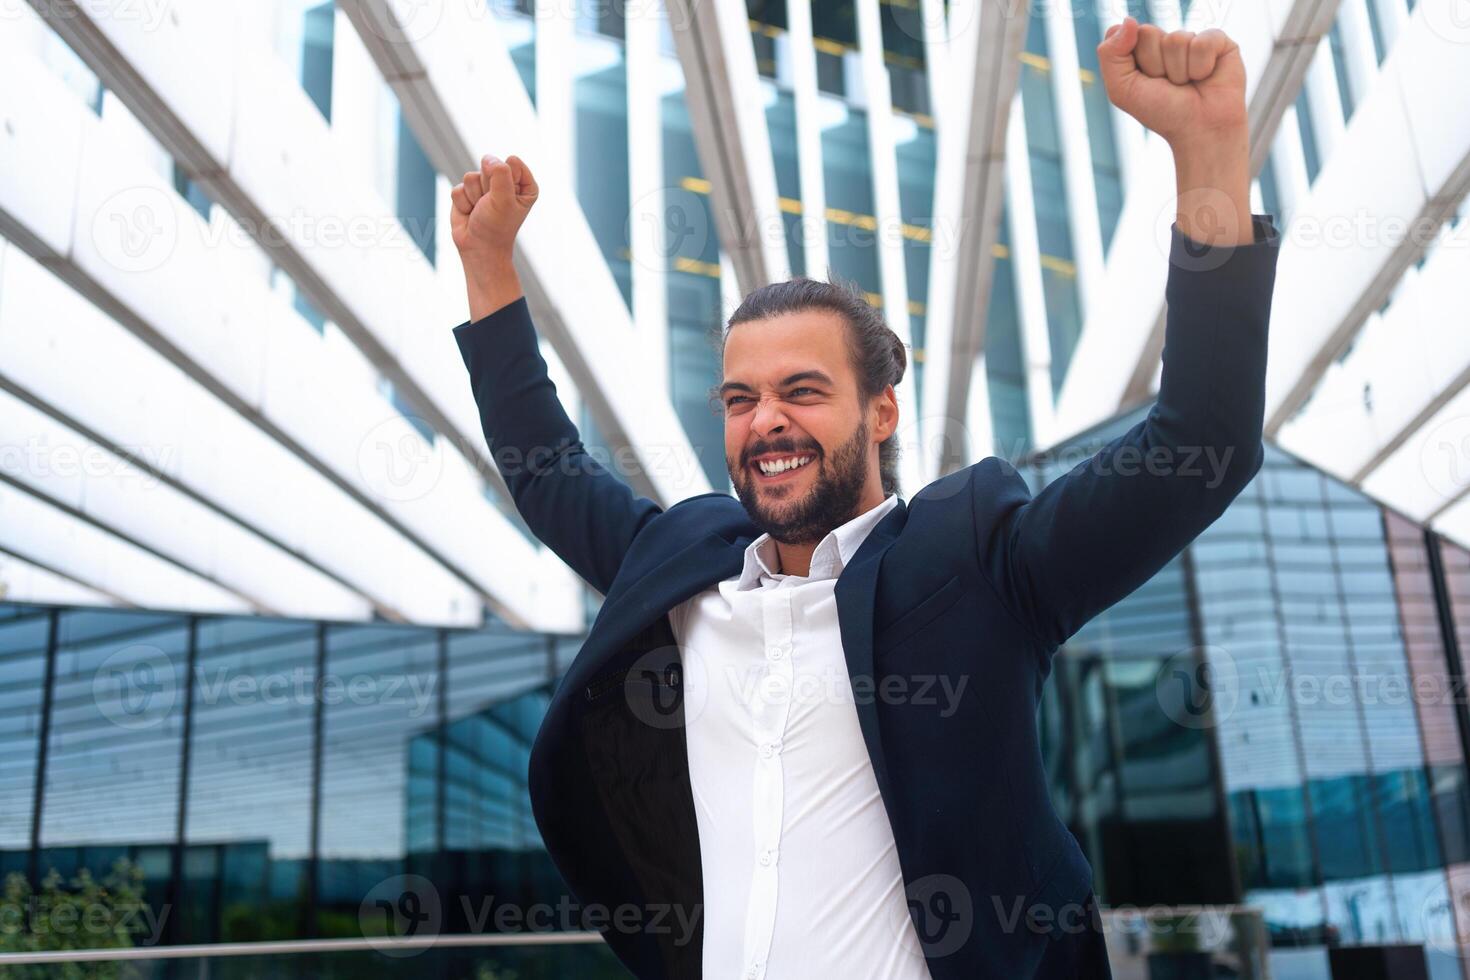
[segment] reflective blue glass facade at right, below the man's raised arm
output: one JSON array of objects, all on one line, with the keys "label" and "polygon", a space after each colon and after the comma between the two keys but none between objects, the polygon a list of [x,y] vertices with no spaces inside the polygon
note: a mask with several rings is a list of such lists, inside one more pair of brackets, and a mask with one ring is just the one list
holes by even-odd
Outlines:
[{"label": "reflective blue glass facade at right, below the man's raised arm", "polygon": [[[1141,417],[1033,457],[1033,486]],[[1267,445],[1226,513],[1058,654],[1053,796],[1104,904],[1257,907],[1276,949],[1452,948],[1466,572]]]}]

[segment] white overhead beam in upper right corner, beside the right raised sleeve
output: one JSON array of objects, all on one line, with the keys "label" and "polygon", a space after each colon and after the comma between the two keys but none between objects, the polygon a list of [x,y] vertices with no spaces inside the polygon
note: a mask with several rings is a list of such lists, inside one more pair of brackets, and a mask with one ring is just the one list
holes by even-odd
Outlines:
[{"label": "white overhead beam in upper right corner, beside the right raised sleeve", "polygon": [[1297,209],[1280,257],[1266,429],[1302,406],[1470,190],[1470,26],[1421,0]]}]

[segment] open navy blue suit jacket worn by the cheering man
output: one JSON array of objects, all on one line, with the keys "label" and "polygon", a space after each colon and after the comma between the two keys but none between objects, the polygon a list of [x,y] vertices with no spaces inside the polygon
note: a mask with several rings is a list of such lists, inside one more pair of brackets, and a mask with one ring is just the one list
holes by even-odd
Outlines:
[{"label": "open navy blue suit jacket worn by the cheering man", "polygon": [[[900,498],[836,580],[856,710],[935,980],[1061,974],[1047,954],[1078,930],[1092,871],[1047,793],[1042,685],[1057,648],[1261,466],[1279,234],[1264,215],[1252,226],[1251,244],[1219,248],[1173,226],[1147,419],[1035,497],[988,457]],[[729,494],[664,510],[589,457],[525,300],[454,336],[522,517],[606,597],[531,752],[537,826],[634,974],[698,977],[703,930],[681,924],[703,924],[703,892],[667,611],[738,574],[760,530]],[[941,679],[964,679],[957,704]]]}]

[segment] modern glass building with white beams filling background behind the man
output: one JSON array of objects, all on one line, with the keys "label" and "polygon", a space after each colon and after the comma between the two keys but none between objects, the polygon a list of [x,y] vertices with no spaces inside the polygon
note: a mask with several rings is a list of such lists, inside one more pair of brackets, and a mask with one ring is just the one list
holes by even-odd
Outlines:
[{"label": "modern glass building with white beams filling background behind the man", "polygon": [[[1057,658],[1053,795],[1111,908],[1260,917],[1260,955],[1120,924],[1119,976],[1136,954],[1355,977],[1345,951],[1388,948],[1457,974],[1454,0],[13,6],[0,868],[128,858],[154,917],[176,909],[132,942],[175,946],[484,934],[488,896],[554,905],[525,752],[600,597],[531,536],[479,432],[450,188],[485,151],[535,167],[542,353],[637,492],[729,489],[711,338],[801,273],[856,281],[910,345],[904,497],[989,454],[1039,488],[1157,386],[1173,175],[1098,78],[1125,13],[1241,46],[1252,206],[1283,232],[1270,448]],[[617,976],[575,926],[234,962]]]}]

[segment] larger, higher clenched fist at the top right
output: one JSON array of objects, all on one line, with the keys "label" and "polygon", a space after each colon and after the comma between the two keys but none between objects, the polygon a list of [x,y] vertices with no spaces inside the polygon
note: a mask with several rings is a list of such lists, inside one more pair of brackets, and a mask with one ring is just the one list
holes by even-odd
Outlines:
[{"label": "larger, higher clenched fist at the top right", "polygon": [[1170,31],[1125,18],[1098,44],[1114,106],[1177,147],[1247,129],[1245,65],[1225,31]]}]

